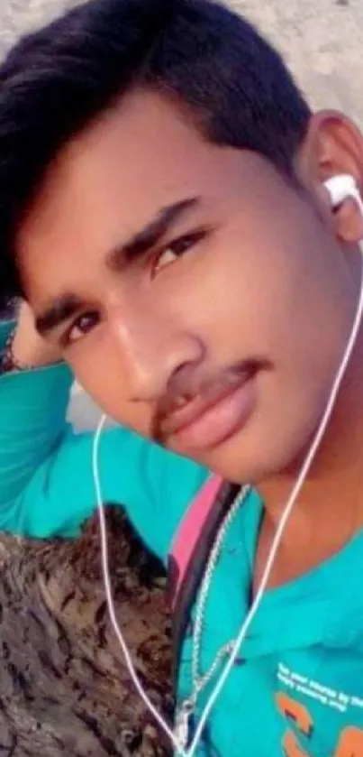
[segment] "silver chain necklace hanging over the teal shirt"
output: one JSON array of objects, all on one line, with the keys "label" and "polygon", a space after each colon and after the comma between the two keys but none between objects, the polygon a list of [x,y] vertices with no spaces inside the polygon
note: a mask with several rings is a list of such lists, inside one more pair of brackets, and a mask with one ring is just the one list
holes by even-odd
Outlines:
[{"label": "silver chain necklace hanging over the teal shirt", "polygon": [[204,576],[202,579],[198,599],[195,605],[195,623],[193,631],[193,649],[192,649],[192,694],[182,702],[177,710],[176,724],[174,734],[180,747],[185,750],[189,742],[190,722],[195,711],[198,697],[204,691],[204,688],[213,679],[217,669],[220,667],[222,660],[233,650],[235,639],[223,644],[216,652],[213,663],[204,675],[199,672],[201,659],[201,644],[204,631],[205,605],[209,595],[209,590],[213,581],[214,571],[222,551],[224,538],[234,520],[240,506],[245,502],[247,495],[250,493],[250,486],[242,486],[240,492],[235,497],[229,511],[224,516],[220,528],[217,532],[213,547],[209,555]]}]

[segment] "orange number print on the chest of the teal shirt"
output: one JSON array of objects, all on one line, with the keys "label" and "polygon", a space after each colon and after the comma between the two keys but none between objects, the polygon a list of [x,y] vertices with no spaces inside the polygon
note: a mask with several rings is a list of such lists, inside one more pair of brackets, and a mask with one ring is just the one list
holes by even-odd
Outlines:
[{"label": "orange number print on the chest of the teal shirt", "polygon": [[[313,718],[308,709],[300,702],[283,692],[276,695],[280,712],[294,720],[302,734],[311,738],[313,734]],[[283,739],[283,749],[286,757],[311,757],[298,743],[295,734],[287,731]],[[332,757],[363,757],[363,731],[353,725],[341,731],[339,740]]]}]

